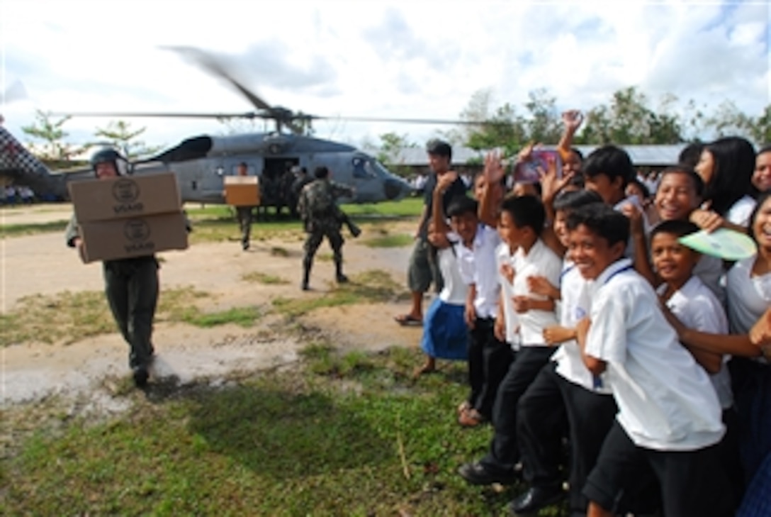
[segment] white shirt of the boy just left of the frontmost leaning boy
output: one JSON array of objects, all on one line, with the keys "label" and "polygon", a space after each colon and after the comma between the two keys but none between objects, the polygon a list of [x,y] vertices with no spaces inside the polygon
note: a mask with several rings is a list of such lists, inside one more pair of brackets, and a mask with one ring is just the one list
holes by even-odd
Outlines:
[{"label": "white shirt of the boy just left of the frontmost leaning boy", "polygon": [[[577,323],[589,316],[591,281],[584,279],[575,263],[565,260],[560,280],[560,325],[574,329]],[[599,380],[589,371],[581,357],[576,340],[565,341],[551,356],[557,362],[557,373],[565,380],[578,384],[597,394],[612,393],[607,373],[601,373]]]}]

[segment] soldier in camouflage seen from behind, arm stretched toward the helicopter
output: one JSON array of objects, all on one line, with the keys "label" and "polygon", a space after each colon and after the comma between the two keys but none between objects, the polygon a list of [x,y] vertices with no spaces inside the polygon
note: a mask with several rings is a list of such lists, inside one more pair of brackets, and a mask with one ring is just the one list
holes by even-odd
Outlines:
[{"label": "soldier in camouflage seen from behind, arm stretched toward the helicopter", "polygon": [[305,231],[308,233],[303,246],[305,255],[302,259],[301,288],[304,291],[308,290],[313,256],[325,236],[335,257],[335,278],[338,282],[348,282],[348,277],[342,273],[342,245],[345,240],[340,234],[345,215],[342,214],[335,200],[344,195],[352,196],[353,189],[331,181],[327,167],[316,167],[314,175],[315,181],[302,188],[297,205]]}]

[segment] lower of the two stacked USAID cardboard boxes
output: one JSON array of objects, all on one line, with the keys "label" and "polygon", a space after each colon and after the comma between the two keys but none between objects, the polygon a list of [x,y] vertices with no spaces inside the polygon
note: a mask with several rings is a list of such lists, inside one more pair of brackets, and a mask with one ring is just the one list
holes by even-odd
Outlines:
[{"label": "lower of the two stacked USAID cardboard boxes", "polygon": [[187,228],[181,212],[79,223],[83,259],[128,259],[169,249],[187,248]]}]

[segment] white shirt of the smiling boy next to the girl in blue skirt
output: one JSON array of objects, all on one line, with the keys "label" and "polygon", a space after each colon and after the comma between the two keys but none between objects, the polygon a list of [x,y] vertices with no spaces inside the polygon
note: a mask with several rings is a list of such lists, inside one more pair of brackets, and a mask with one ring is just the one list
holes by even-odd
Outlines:
[{"label": "white shirt of the smiling boy next to the girl in blue skirt", "polygon": [[480,318],[494,318],[498,314],[500,286],[495,255],[498,245],[498,231],[482,223],[476,227],[471,248],[466,248],[463,243],[455,245],[463,282],[476,285],[474,309]]}]

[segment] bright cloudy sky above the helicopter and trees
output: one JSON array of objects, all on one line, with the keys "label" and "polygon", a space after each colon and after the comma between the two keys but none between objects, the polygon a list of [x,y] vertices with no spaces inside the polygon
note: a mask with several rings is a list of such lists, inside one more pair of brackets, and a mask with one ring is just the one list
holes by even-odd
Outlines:
[{"label": "bright cloudy sky above the helicopter and trees", "polygon": [[[495,106],[522,106],[547,88],[559,109],[588,110],[625,86],[708,109],[732,100],[757,115],[771,103],[769,16],[765,1],[0,0],[0,95],[17,81],[27,93],[0,99],[0,113],[26,140],[20,128],[38,109],[251,110],[230,86],[160,49],[196,46],[268,103],[333,117],[452,119],[482,89]],[[76,118],[65,129],[79,143],[108,121]],[[228,130],[207,120],[132,122],[157,145]],[[331,120],[315,129],[362,144],[387,131],[422,143],[449,128]]]}]

